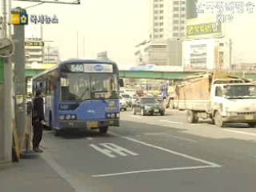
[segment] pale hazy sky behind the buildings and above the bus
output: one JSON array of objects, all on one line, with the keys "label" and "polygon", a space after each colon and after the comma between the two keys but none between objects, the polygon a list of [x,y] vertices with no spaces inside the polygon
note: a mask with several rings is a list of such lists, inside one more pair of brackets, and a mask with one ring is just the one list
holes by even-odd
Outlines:
[{"label": "pale hazy sky behind the buildings and above the bus", "polygon": [[[81,0],[81,6],[44,4],[28,9],[28,14],[56,14],[58,25],[44,25],[44,39],[53,40],[62,59],[75,58],[76,34],[79,38],[79,57],[95,58],[107,50],[110,58],[120,66],[134,65],[134,45],[142,42],[149,31],[149,0]],[[223,0],[225,2],[225,0]],[[234,2],[234,1],[230,1]],[[247,1],[246,1],[247,2]],[[249,2],[249,1],[248,1]],[[250,0],[256,5],[256,0]],[[13,2],[13,6],[34,3]],[[28,26],[33,29],[34,26]],[[36,32],[35,30],[33,30]],[[256,9],[254,14],[237,14],[226,25],[226,35],[234,41],[234,59],[256,62]]]}]

